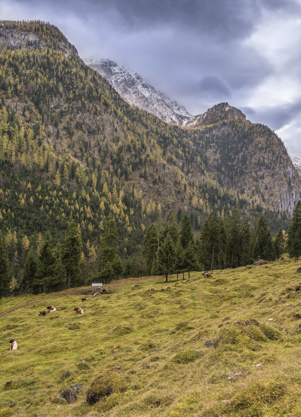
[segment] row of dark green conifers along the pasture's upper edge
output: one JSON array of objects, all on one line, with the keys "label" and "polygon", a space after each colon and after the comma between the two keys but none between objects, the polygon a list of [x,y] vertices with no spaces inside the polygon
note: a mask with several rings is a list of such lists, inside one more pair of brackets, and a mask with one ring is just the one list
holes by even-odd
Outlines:
[{"label": "row of dark green conifers along the pasture's upper edge", "polygon": [[[25,236],[26,238],[26,236]],[[191,219],[184,214],[178,226],[172,212],[165,226],[151,224],[145,231],[143,254],[121,259],[115,219],[105,221],[96,250],[87,244],[83,252],[81,229],[70,221],[63,242],[52,244],[49,232],[38,234],[35,244],[23,238],[19,276],[13,276],[19,263],[14,252],[15,234],[0,230],[0,297],[8,294],[60,291],[90,284],[93,280],[108,283],[128,276],[183,274],[190,271],[237,268],[256,259],[273,261],[285,250],[289,256],[301,256],[301,201],[293,212],[288,234],[280,229],[272,237],[263,215],[251,224],[242,220],[238,206],[224,218],[210,214],[201,232],[193,235]]]}]

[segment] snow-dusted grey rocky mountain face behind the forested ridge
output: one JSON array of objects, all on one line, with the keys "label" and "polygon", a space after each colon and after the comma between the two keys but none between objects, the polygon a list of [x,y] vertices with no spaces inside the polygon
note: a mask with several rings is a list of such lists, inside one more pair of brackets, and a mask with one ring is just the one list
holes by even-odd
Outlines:
[{"label": "snow-dusted grey rocky mountain face behind the forested ridge", "polygon": [[103,75],[128,103],[155,114],[161,120],[179,125],[191,117],[186,108],[155,90],[132,70],[109,59],[93,58],[84,62]]}]

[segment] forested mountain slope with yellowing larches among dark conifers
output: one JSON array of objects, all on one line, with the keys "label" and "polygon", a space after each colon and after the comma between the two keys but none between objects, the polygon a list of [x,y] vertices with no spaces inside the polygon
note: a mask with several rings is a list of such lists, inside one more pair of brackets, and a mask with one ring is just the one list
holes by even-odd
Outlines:
[{"label": "forested mountain slope with yellowing larches among dark conifers", "polygon": [[[2,21],[0,31],[0,222],[19,244],[46,230],[57,241],[70,219],[84,244],[97,244],[113,216],[128,256],[145,227],[172,210],[178,220],[188,211],[198,230],[209,213],[236,204],[244,216],[265,209],[274,232],[286,228],[286,213],[269,207],[291,213],[300,179],[268,128],[169,125],[126,103],[53,25]],[[279,190],[258,183],[263,173]]]}]

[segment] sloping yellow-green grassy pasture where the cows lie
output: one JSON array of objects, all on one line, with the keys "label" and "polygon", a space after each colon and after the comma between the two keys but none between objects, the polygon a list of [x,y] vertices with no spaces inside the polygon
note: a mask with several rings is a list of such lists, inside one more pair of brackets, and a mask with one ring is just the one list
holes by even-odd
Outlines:
[{"label": "sloping yellow-green grassy pasture where the cows lie", "polygon": [[[83,303],[88,287],[2,299],[0,416],[300,416],[299,266],[286,258],[211,278],[125,279]],[[48,304],[57,311],[38,317]],[[227,379],[240,370],[250,373]],[[110,394],[89,405],[92,382]],[[83,389],[69,405],[56,397],[71,384]]]}]

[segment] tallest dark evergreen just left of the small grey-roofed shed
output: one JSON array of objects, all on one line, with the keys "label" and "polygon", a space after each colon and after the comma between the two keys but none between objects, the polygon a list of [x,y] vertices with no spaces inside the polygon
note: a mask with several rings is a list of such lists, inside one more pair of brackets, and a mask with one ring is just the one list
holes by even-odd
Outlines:
[{"label": "tallest dark evergreen just left of the small grey-roofed shed", "polygon": [[67,287],[75,284],[80,272],[80,231],[73,220],[68,225],[67,236],[62,248],[62,259],[67,274]]}]

